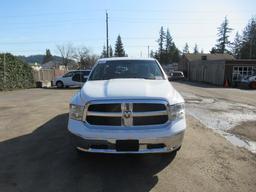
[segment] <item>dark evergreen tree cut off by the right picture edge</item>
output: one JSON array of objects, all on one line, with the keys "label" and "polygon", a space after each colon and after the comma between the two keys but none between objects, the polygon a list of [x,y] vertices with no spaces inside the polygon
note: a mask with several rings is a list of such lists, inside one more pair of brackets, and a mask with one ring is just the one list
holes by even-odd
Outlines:
[{"label": "dark evergreen tree cut off by the right picture edge", "polygon": [[252,18],[243,31],[242,59],[256,59],[256,17]]}]

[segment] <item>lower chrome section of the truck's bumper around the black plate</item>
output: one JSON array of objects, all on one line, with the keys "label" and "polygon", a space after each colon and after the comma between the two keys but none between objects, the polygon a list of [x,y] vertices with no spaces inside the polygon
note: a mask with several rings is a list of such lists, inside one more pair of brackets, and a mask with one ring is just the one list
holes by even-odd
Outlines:
[{"label": "lower chrome section of the truck's bumper around the black plate", "polygon": [[116,149],[115,139],[98,140],[84,139],[70,133],[72,144],[80,151],[90,153],[117,153],[117,154],[144,154],[144,153],[168,153],[178,149],[183,141],[184,131],[170,137],[157,139],[139,139],[138,150],[120,151]]}]

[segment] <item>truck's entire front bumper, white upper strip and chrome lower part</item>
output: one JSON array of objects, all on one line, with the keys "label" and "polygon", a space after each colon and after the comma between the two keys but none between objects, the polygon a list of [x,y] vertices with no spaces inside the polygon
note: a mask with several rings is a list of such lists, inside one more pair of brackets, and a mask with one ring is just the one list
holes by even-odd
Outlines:
[{"label": "truck's entire front bumper, white upper strip and chrome lower part", "polygon": [[[185,118],[159,129],[101,130],[87,128],[83,122],[69,119],[68,130],[72,144],[91,153],[168,153],[177,150],[183,141]],[[138,142],[136,150],[120,150],[118,141]]]}]

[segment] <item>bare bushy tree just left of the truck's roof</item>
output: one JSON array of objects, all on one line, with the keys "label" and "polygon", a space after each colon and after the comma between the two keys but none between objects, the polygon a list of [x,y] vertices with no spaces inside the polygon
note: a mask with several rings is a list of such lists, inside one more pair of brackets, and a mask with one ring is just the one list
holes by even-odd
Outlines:
[{"label": "bare bushy tree just left of the truck's roof", "polygon": [[99,57],[91,54],[91,51],[87,47],[81,47],[76,48],[73,58],[77,61],[79,69],[88,69],[96,63]]}]

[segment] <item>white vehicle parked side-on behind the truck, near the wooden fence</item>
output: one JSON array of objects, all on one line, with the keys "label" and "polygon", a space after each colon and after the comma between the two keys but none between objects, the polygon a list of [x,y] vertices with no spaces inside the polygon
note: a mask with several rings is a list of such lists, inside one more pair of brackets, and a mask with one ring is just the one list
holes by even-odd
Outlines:
[{"label": "white vehicle parked side-on behind the truck, near the wooden fence", "polygon": [[87,81],[91,70],[69,71],[63,76],[56,77],[53,84],[58,88],[79,86],[82,87]]}]

